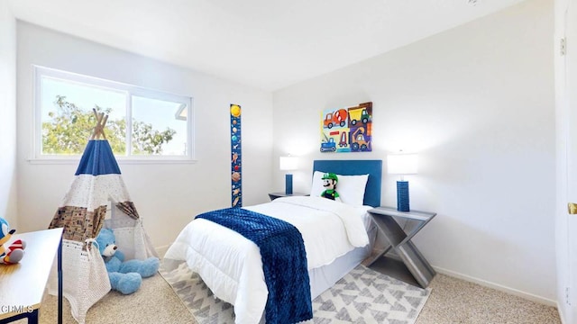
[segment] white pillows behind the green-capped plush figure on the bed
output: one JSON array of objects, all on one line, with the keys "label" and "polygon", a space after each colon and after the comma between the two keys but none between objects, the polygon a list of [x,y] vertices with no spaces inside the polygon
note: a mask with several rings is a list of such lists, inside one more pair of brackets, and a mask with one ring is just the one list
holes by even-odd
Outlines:
[{"label": "white pillows behind the green-capped plush figure on the bed", "polygon": [[[323,186],[323,175],[325,172],[315,171],[313,174],[313,185],[310,188],[310,195],[318,197],[325,191]],[[364,191],[367,187],[369,175],[336,175],[339,179],[336,184],[336,192],[344,203],[353,206],[362,206]]]}]

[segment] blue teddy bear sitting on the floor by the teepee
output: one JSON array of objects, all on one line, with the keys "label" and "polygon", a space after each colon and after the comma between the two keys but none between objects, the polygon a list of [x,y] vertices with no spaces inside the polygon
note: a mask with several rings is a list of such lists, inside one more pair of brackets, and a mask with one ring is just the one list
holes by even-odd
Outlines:
[{"label": "blue teddy bear sitting on the floor by the teepee", "polygon": [[124,261],[124,253],[118,250],[112,229],[100,229],[96,243],[100,255],[105,259],[110,285],[115,291],[124,294],[134,293],[141,287],[142,278],[150,277],[159,270],[158,257]]}]

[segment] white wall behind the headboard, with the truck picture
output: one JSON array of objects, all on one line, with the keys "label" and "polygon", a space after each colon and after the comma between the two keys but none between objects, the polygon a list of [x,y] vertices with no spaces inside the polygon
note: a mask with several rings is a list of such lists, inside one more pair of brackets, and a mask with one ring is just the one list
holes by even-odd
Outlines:
[{"label": "white wall behind the headboard, with the truck picture", "polygon": [[[274,155],[302,157],[306,192],[313,159],[417,152],[411,208],[437,216],[415,242],[431,264],[554,304],[553,27],[552,2],[532,0],[275,92]],[[320,153],[320,112],[367,101],[373,151]]]}]

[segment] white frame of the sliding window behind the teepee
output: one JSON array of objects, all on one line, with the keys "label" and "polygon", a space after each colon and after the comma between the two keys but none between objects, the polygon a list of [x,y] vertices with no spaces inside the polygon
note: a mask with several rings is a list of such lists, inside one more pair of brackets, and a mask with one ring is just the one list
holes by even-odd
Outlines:
[{"label": "white frame of the sliding window behind the teepee", "polygon": [[169,94],[159,90],[152,90],[136,85],[128,85],[120,82],[106,80],[94,76],[85,76],[77,73],[62,71],[50,67],[33,66],[33,82],[34,82],[34,104],[33,116],[34,127],[32,134],[32,158],[31,161],[38,162],[69,162],[78,161],[80,155],[57,155],[57,154],[42,154],[42,117],[41,117],[41,78],[50,77],[60,79],[67,82],[78,83],[80,85],[89,85],[94,87],[104,88],[106,90],[124,92],[126,94],[126,113],[127,121],[132,121],[132,96],[141,96],[150,99],[157,99],[169,101],[174,103],[187,104],[187,154],[181,156],[157,156],[157,155],[131,155],[131,139],[132,139],[132,122],[126,122],[126,155],[119,155],[114,153],[114,157],[119,162],[130,161],[136,163],[164,163],[164,162],[194,162],[194,109],[192,106],[193,98],[187,95]]}]

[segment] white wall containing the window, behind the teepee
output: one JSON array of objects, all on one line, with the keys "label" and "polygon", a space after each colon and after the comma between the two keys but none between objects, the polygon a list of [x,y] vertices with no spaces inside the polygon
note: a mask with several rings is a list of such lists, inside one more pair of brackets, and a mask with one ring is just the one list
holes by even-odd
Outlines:
[{"label": "white wall containing the window, behind the teepee", "polygon": [[243,107],[243,202],[268,200],[270,188],[266,184],[270,184],[271,178],[272,146],[270,93],[29,23],[18,22],[17,36],[18,197],[22,230],[48,227],[78,166],[78,160],[69,164],[29,161],[32,64],[194,97],[197,163],[119,162],[124,182],[156,247],[172,242],[198,212],[230,207],[230,103]]}]

